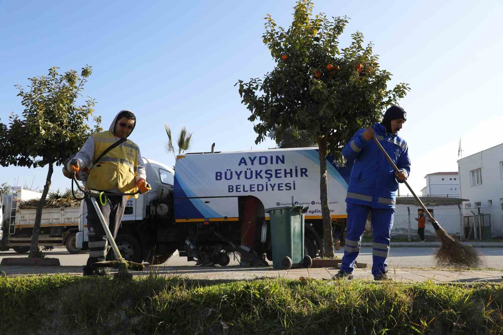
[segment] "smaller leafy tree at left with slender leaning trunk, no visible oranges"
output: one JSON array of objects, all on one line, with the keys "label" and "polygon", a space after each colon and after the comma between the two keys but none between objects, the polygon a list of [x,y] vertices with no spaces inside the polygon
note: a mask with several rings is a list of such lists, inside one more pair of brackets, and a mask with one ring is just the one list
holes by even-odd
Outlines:
[{"label": "smaller leafy tree at left with slender leaning trunk, no visible oranges", "polygon": [[71,153],[86,142],[100,127],[101,117],[94,117],[92,129],[87,121],[94,112],[94,99],[76,106],[75,101],[92,73],[91,66],[58,73],[51,67],[47,76],[28,78],[30,86],[19,90],[25,107],[21,117],[11,114],[9,126],[0,123],[0,164],[2,166],[43,167],[49,165],[42,197],[37,206],[35,226],[31,238],[30,255],[38,251],[40,219],[49,188],[53,166],[61,165]]}]

